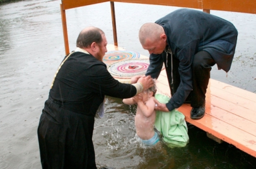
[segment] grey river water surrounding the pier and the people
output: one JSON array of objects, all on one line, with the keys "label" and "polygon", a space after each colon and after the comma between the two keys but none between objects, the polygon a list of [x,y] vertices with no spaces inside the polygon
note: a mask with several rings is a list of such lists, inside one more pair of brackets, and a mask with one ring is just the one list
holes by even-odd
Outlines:
[{"label": "grey river water surrounding the pier and the people", "polygon": [[[30,0],[0,6],[0,168],[41,168],[37,127],[53,75],[65,55],[61,1]],[[178,7],[115,3],[119,46],[148,56],[138,30]],[[213,79],[256,93],[256,15],[211,11],[238,29],[231,70],[213,67]],[[69,47],[89,25],[101,28],[113,44],[110,3],[66,10]],[[256,168],[256,159],[232,145],[217,144],[188,124],[184,148],[161,143],[147,148],[135,137],[135,108],[107,97],[106,114],[94,131],[96,163],[115,168]]]}]

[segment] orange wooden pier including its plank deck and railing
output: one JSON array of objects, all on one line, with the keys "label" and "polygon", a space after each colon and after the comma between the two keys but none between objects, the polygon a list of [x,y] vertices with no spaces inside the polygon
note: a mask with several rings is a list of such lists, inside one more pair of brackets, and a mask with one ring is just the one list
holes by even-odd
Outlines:
[{"label": "orange wooden pier including its plank deck and railing", "polygon": [[[66,54],[69,53],[69,45],[65,10],[104,2],[110,2],[115,46],[118,46],[118,39],[114,2],[178,6],[202,9],[208,13],[210,10],[224,10],[256,14],[255,0],[62,0],[60,7]],[[114,50],[118,50],[118,47]],[[158,78],[157,87],[158,93],[170,96],[165,70]],[[190,105],[183,104],[178,110],[185,115],[187,122],[203,129],[208,137],[218,142],[226,141],[256,157],[256,94],[211,79],[206,94],[205,116],[200,120],[192,120],[191,109]]]}]

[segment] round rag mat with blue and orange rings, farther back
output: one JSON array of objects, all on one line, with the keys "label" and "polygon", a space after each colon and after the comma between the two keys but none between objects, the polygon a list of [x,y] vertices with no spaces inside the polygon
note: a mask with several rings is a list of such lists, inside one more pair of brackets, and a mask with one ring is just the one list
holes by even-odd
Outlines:
[{"label": "round rag mat with blue and orange rings, farther back", "polygon": [[135,51],[128,51],[128,50],[123,50],[123,51],[113,50],[113,51],[108,51],[105,54],[105,56],[103,57],[103,62],[108,65],[115,61],[134,59],[134,58],[139,58],[139,53]]}]

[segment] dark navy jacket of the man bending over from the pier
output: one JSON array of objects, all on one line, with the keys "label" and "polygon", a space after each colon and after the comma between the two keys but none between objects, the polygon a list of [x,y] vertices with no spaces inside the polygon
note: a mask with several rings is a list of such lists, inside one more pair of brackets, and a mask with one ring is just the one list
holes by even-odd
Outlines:
[{"label": "dark navy jacket of the man bending over from the pier", "polygon": [[[207,51],[218,69],[228,72],[235,54],[238,32],[229,21],[193,9],[178,9],[155,23],[164,28],[172,57],[180,60],[180,86],[166,105],[171,111],[180,107],[192,90],[191,65],[194,55],[202,50]],[[149,59],[146,75],[157,78],[164,60],[161,55],[155,54],[151,54]],[[171,55],[168,55],[168,61],[171,61]],[[174,99],[180,99],[176,101],[179,104],[175,104]]]}]

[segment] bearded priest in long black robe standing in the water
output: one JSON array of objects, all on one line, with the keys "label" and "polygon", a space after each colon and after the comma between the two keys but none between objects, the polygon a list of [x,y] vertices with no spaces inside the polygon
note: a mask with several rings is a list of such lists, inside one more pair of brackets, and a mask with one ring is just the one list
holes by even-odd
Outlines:
[{"label": "bearded priest in long black robe standing in the water", "polygon": [[82,30],[76,46],[57,69],[39,121],[43,169],[96,169],[92,133],[104,96],[130,98],[154,85],[150,76],[133,77],[133,84],[113,79],[102,62],[107,39],[99,28]]}]

